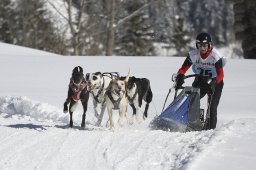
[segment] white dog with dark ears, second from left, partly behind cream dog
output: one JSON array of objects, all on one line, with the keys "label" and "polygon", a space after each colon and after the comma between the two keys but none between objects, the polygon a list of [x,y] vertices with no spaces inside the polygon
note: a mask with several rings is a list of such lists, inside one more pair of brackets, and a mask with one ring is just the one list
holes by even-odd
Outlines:
[{"label": "white dog with dark ears, second from left, partly behind cream dog", "polygon": [[[112,79],[118,77],[118,73],[87,73],[86,74],[86,82],[88,84],[87,90],[91,93],[93,97],[93,108],[95,117],[98,118],[97,125],[101,124],[105,109],[105,93],[106,89],[109,87],[109,83]],[[99,114],[100,112],[100,114]]]}]

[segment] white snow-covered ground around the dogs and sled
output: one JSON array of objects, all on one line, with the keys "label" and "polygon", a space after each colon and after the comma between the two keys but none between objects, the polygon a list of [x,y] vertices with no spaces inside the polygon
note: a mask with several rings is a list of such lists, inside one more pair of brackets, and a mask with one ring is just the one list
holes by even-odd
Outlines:
[{"label": "white snow-covered ground around the dogs and sled", "polygon": [[[225,52],[225,51],[224,51]],[[229,59],[215,130],[174,133],[150,130],[182,64],[177,57],[59,56],[0,43],[0,169],[226,170],[255,169],[256,60]],[[62,112],[73,67],[85,72],[128,69],[147,77],[154,93],[149,118],[115,130],[95,127],[92,101],[73,129]],[[189,82],[188,82],[189,83]],[[172,98],[172,96],[170,97]],[[131,109],[128,110],[131,116]]]}]

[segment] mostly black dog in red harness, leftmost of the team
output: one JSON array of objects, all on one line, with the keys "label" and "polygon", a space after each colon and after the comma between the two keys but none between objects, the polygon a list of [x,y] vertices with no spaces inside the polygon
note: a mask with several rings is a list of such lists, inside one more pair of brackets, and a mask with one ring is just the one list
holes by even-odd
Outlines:
[{"label": "mostly black dog in red harness, leftmost of the team", "polygon": [[83,105],[83,116],[82,116],[81,127],[84,128],[86,111],[87,111],[88,100],[89,100],[89,92],[87,91],[83,68],[81,66],[75,67],[72,71],[72,76],[70,78],[70,83],[68,87],[68,96],[64,103],[63,112],[67,113],[69,111],[70,127],[73,127],[73,119],[72,119],[73,112],[75,111],[79,100]]}]

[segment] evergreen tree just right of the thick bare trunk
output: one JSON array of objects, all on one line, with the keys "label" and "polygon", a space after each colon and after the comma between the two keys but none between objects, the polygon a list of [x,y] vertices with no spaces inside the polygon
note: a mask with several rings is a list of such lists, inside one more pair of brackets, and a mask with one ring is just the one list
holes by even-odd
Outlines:
[{"label": "evergreen tree just right of the thick bare trunk", "polygon": [[[129,15],[146,3],[130,0],[125,6]],[[153,29],[149,18],[149,10],[142,10],[126,21],[118,30],[116,37],[116,54],[130,56],[155,55],[153,47]]]}]

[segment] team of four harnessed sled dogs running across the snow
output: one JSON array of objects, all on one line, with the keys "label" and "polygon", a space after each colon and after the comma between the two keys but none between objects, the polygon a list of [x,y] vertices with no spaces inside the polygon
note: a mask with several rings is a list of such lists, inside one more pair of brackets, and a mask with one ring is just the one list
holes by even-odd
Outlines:
[{"label": "team of four harnessed sled dogs running across the snow", "polygon": [[63,109],[64,113],[69,112],[70,114],[70,127],[73,127],[73,112],[80,100],[83,106],[81,127],[85,128],[89,94],[91,94],[93,99],[95,117],[98,119],[96,125],[101,125],[105,109],[107,108],[108,121],[106,126],[110,129],[114,127],[113,110],[119,111],[118,123],[120,126],[123,126],[129,104],[133,110],[132,119],[130,120],[132,124],[138,119],[142,100],[146,103],[143,113],[143,119],[146,119],[149,103],[153,97],[150,81],[147,78],[130,76],[130,70],[125,77],[120,77],[117,72],[95,72],[84,75],[83,68],[77,66],[72,71],[68,95]]}]

